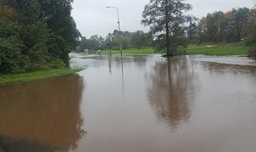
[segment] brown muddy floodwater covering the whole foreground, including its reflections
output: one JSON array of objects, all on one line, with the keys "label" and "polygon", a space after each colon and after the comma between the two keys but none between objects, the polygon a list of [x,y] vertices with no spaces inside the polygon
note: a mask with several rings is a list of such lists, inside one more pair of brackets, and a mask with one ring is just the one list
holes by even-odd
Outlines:
[{"label": "brown muddy floodwater covering the whole foreground, including its reflections", "polygon": [[70,64],[87,70],[0,87],[1,152],[256,151],[254,62],[73,54]]}]

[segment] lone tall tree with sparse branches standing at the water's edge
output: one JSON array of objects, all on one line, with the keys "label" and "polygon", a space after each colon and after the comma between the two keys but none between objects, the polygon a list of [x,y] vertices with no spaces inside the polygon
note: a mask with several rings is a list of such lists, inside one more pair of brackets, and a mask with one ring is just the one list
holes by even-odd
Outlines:
[{"label": "lone tall tree with sparse branches standing at the water's edge", "polygon": [[185,23],[191,19],[184,12],[192,7],[185,0],[150,0],[143,11],[142,24],[150,26],[154,34],[157,50],[166,51],[172,56],[185,48]]}]

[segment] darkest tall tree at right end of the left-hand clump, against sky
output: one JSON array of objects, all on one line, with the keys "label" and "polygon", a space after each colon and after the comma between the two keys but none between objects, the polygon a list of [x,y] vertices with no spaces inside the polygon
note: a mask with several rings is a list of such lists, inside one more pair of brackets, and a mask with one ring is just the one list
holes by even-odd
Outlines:
[{"label": "darkest tall tree at right end of the left-hand clump, against sky", "polygon": [[73,0],[38,0],[42,18],[49,27],[48,49],[51,56],[68,63],[68,53],[79,44],[80,33],[71,16]]}]

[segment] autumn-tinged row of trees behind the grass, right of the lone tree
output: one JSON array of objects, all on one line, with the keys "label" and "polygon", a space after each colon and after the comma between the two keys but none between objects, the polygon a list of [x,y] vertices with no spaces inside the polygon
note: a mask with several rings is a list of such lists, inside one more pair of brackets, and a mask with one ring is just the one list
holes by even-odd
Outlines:
[{"label": "autumn-tinged row of trees behind the grass, right of the lone tree", "polygon": [[256,9],[233,8],[207,14],[200,20],[192,20],[187,33],[192,43],[244,41],[253,45],[256,43]]}]

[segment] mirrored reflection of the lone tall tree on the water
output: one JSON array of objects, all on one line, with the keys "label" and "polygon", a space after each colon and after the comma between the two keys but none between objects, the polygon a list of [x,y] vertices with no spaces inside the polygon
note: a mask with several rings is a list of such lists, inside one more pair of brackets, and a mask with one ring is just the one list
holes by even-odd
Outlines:
[{"label": "mirrored reflection of the lone tall tree on the water", "polygon": [[150,72],[149,103],[171,127],[190,120],[195,75],[188,62],[186,58],[158,59]]}]

